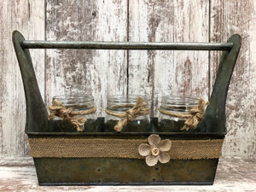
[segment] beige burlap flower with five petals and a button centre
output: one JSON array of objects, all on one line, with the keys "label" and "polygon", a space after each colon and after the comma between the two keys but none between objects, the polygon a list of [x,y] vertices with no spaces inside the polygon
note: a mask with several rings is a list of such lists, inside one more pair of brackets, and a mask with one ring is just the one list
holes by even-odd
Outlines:
[{"label": "beige burlap flower with five petals and a button centre", "polygon": [[169,139],[162,140],[156,134],[148,137],[148,143],[140,144],[138,152],[142,156],[146,156],[146,164],[154,166],[158,161],[167,163],[170,161],[169,151],[172,147],[172,142]]}]

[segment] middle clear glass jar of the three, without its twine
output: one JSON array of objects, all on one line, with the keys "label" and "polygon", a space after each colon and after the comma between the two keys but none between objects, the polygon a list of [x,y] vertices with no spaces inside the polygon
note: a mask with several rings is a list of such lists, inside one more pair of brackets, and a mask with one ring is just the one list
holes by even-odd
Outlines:
[{"label": "middle clear glass jar of the three, without its twine", "polygon": [[[137,100],[138,96],[135,95],[108,96],[107,109],[109,113],[125,114],[127,110],[134,107],[134,105],[137,103]],[[148,105],[145,108],[148,108]],[[116,132],[114,130],[114,126],[117,125],[119,120],[123,118],[114,116],[109,113],[106,113],[105,131]],[[149,123],[149,113],[139,115],[134,121],[128,121],[128,123],[123,126],[121,132],[146,132],[150,130]]]}]

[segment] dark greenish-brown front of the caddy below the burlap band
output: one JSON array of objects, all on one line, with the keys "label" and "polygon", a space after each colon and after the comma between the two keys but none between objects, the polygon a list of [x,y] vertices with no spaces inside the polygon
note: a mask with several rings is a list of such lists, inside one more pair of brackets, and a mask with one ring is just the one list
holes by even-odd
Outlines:
[{"label": "dark greenish-brown front of the caddy below the burlap band", "polygon": [[171,160],[150,167],[121,158],[34,158],[40,185],[212,184],[218,159]]}]

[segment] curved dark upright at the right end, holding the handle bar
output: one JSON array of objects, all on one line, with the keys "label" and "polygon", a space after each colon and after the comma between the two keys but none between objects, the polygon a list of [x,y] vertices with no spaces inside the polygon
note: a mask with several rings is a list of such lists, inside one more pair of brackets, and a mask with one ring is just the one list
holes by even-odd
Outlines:
[{"label": "curved dark upright at the right end, holding the handle bar", "polygon": [[212,95],[209,99],[210,104],[207,106],[204,119],[198,125],[198,127],[201,128],[201,131],[219,133],[226,131],[225,104],[230,79],[241,47],[240,35],[235,34],[231,36],[228,43],[233,43],[233,47],[230,51],[223,51],[223,54],[221,55],[218,73],[215,79]]}]

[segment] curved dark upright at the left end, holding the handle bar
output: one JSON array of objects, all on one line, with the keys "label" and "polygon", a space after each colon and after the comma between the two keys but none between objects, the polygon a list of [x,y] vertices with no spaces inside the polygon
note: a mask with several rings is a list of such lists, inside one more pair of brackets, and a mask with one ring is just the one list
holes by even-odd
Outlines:
[{"label": "curved dark upright at the left end, holding the handle bar", "polygon": [[38,82],[32,65],[31,55],[28,49],[22,49],[20,42],[25,38],[20,32],[13,32],[13,43],[20,65],[23,86],[26,96],[26,131],[48,131],[48,113],[44,106]]}]

